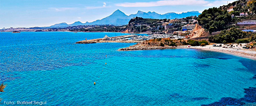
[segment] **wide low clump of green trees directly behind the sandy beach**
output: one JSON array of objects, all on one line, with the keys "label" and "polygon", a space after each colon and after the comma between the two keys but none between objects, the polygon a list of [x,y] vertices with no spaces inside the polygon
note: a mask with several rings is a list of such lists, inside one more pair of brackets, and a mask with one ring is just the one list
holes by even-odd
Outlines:
[{"label": "wide low clump of green trees directly behind the sandy beach", "polygon": [[[249,41],[255,40],[255,34],[252,32],[244,32],[239,29],[231,28],[230,31],[223,30],[218,35],[209,36],[209,41],[214,43],[234,43],[245,41],[244,38],[249,38]],[[238,40],[239,39],[239,40]]]}]

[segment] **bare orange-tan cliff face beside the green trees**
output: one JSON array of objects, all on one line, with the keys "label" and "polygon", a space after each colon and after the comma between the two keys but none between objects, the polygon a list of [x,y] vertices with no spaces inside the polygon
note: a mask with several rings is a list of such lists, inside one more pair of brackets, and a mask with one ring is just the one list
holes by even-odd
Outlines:
[{"label": "bare orange-tan cliff face beside the green trees", "polygon": [[190,33],[190,38],[209,36],[210,34],[202,28],[202,26],[196,24],[195,29]]}]

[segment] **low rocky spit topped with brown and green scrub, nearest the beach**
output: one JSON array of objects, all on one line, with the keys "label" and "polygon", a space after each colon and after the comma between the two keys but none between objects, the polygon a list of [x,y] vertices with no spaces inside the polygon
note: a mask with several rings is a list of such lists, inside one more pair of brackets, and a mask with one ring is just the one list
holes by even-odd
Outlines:
[{"label": "low rocky spit topped with brown and green scrub, nearest the beach", "polygon": [[173,49],[177,46],[181,46],[185,43],[183,40],[171,40],[170,38],[159,38],[146,40],[136,45],[129,46],[127,48],[120,48],[118,51],[130,51],[130,50],[153,50],[153,49]]}]

